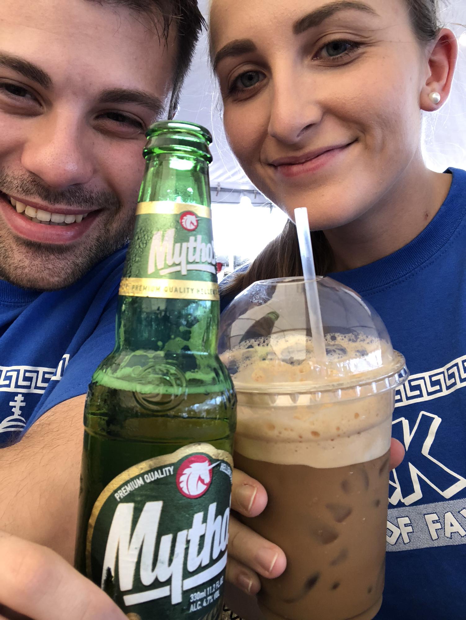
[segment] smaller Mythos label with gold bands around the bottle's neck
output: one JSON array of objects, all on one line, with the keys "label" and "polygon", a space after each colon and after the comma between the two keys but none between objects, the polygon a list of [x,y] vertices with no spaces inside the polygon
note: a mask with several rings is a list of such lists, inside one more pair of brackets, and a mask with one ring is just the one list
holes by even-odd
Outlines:
[{"label": "smaller Mythos label with gold bands around the bottle's neck", "polygon": [[142,202],[120,294],[217,300],[212,212],[203,205]]}]

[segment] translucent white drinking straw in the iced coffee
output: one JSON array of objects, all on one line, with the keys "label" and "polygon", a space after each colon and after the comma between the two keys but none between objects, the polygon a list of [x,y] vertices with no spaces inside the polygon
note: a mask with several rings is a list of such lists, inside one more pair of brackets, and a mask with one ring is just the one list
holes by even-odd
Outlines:
[{"label": "translucent white drinking straw in the iced coffee", "polygon": [[324,330],[322,327],[322,315],[320,313],[319,293],[317,290],[317,280],[315,275],[314,255],[312,253],[311,232],[309,230],[307,209],[305,207],[295,209],[295,222],[296,229],[298,231],[301,262],[303,264],[303,275],[309,320],[312,330],[314,354],[318,365],[325,368],[327,363],[327,354],[325,351]]}]

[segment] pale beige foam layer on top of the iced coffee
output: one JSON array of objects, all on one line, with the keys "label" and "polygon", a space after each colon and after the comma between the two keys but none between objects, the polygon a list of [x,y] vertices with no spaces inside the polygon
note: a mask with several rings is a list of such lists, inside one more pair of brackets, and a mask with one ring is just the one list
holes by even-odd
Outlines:
[{"label": "pale beige foam layer on top of the iced coffee", "polygon": [[[302,404],[302,394],[382,376],[388,345],[383,351],[380,341],[341,334],[328,335],[326,340],[328,349],[329,343],[332,348],[324,379],[309,355],[309,340],[306,359],[290,363],[303,343],[296,334],[280,337],[276,343],[264,341],[259,348],[257,340],[254,348],[243,348],[251,344],[246,342],[228,352],[237,368],[233,375],[238,394],[236,451],[269,463],[319,468],[364,463],[387,453],[393,389],[334,402],[308,399],[307,404]],[[277,386],[287,386],[289,394],[274,395]]]}]

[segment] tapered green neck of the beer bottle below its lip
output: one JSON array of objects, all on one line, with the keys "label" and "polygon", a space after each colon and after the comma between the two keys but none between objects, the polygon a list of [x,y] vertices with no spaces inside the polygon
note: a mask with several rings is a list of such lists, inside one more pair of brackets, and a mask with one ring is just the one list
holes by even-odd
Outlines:
[{"label": "tapered green neck of the beer bottle below its lip", "polygon": [[146,163],[117,313],[117,350],[217,353],[220,304],[208,162]]}]

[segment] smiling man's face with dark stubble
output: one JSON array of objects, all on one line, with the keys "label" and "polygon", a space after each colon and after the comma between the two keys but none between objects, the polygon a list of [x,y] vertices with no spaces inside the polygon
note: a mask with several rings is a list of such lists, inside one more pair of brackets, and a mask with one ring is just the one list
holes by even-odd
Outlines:
[{"label": "smiling man's face with dark stubble", "polygon": [[0,4],[0,278],[53,290],[132,231],[176,41],[106,2]]}]

